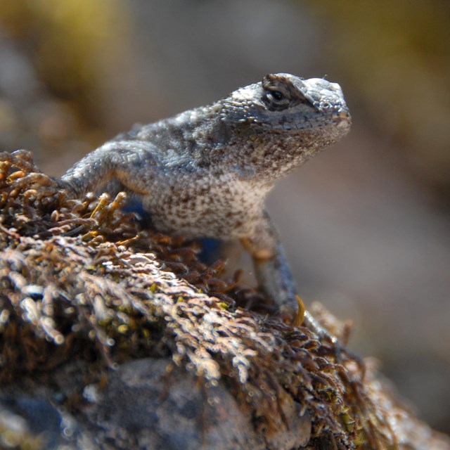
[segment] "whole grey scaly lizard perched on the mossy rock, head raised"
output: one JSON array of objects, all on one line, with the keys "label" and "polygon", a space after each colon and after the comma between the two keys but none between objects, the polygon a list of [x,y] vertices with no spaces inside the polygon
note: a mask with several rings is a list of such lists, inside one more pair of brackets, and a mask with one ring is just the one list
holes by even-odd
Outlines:
[{"label": "whole grey scaly lizard perched on the mossy rock, head raised", "polygon": [[239,239],[259,287],[293,314],[295,283],[264,200],[350,123],[338,84],[267,75],[217,103],[120,134],[77,162],[60,186],[78,197],[114,178],[142,196],[159,231]]}]

